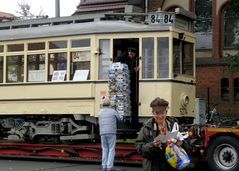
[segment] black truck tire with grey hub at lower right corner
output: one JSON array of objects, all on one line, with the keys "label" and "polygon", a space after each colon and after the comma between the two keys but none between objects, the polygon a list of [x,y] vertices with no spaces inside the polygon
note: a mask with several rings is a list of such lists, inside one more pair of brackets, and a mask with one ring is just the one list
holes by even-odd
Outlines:
[{"label": "black truck tire with grey hub at lower right corner", "polygon": [[207,150],[212,171],[239,171],[239,140],[230,136],[215,138]]}]

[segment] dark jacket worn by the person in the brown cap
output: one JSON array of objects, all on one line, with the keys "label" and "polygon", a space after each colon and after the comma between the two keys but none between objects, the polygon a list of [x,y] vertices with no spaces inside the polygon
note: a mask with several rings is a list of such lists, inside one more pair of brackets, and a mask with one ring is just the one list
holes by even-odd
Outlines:
[{"label": "dark jacket worn by the person in the brown cap", "polygon": [[[171,131],[174,122],[177,122],[177,120],[167,116],[166,122],[168,131]],[[145,122],[136,139],[137,151],[143,157],[143,170],[174,171],[175,169],[165,159],[165,146],[162,145],[159,148],[155,147],[152,143],[154,138],[159,134],[159,131],[154,129],[154,123],[154,118]]]}]

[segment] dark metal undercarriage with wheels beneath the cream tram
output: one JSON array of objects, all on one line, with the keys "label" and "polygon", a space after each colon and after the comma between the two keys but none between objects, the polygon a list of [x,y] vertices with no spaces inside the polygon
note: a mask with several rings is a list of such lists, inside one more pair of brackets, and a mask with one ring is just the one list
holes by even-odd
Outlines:
[{"label": "dark metal undercarriage with wheels beneath the cream tram", "polygon": [[2,139],[11,141],[60,143],[98,138],[96,119],[82,115],[11,116],[1,118],[0,127]]}]

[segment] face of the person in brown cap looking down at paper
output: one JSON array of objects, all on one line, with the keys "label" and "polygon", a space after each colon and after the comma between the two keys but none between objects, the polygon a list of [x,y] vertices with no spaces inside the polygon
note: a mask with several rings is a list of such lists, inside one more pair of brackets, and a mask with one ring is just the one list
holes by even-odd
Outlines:
[{"label": "face of the person in brown cap looking down at paper", "polygon": [[152,108],[152,113],[154,116],[154,119],[157,123],[163,123],[165,122],[166,116],[167,116],[167,107],[153,107]]}]

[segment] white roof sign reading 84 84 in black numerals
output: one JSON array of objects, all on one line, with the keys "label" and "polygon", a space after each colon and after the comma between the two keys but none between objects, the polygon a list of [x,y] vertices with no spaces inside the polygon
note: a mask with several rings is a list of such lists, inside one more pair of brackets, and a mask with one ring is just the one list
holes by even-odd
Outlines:
[{"label": "white roof sign reading 84 84 in black numerals", "polygon": [[151,25],[172,26],[175,23],[174,12],[157,12],[148,15],[148,23]]}]

